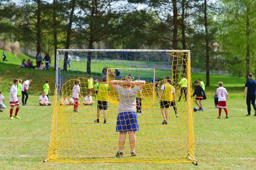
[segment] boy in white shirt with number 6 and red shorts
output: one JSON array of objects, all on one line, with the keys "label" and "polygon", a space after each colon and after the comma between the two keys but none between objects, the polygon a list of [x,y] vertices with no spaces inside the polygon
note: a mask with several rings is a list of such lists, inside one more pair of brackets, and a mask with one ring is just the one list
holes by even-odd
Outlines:
[{"label": "boy in white shirt with number 6 and red shorts", "polygon": [[227,109],[227,99],[228,99],[228,92],[226,88],[223,87],[223,82],[219,82],[219,88],[217,88],[216,94],[218,96],[218,108],[219,108],[219,117],[218,119],[221,119],[221,110],[224,109],[226,113],[226,118],[229,118],[228,116],[228,109]]}]

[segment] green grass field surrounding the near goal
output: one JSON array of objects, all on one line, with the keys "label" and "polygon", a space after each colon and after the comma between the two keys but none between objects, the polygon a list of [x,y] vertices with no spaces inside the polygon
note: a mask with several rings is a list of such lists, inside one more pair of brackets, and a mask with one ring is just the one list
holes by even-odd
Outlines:
[{"label": "green grass field surrounding the near goal", "polygon": [[[256,169],[256,117],[245,117],[246,102],[242,99],[246,81],[244,78],[210,75],[211,85],[206,87],[208,99],[203,101],[204,112],[195,113],[195,158],[198,166],[194,166],[187,163],[43,163],[49,148],[53,107],[39,106],[38,97],[45,81],[44,77],[52,80],[53,85],[55,72],[22,70],[16,65],[1,62],[0,74],[3,82],[0,89],[4,89],[2,95],[6,99],[6,109],[0,114],[0,169]],[[29,106],[20,108],[21,119],[9,120],[9,88],[12,79],[16,77],[22,77],[24,80],[32,78],[34,81],[30,86],[27,102]],[[192,80],[204,77],[203,74],[192,74]],[[222,119],[217,119],[218,109],[214,106],[213,96],[218,81],[224,82],[224,87],[229,93],[229,119],[224,119],[224,111]],[[83,111],[84,106],[81,109]],[[109,110],[114,110],[112,105]],[[173,113],[173,109],[169,111]],[[112,115],[109,125],[114,126],[115,113],[109,115]],[[92,114],[91,119],[93,116]],[[143,124],[143,119],[140,121]],[[137,148],[139,149],[140,145]],[[116,152],[117,149],[113,149],[113,152]]]}]

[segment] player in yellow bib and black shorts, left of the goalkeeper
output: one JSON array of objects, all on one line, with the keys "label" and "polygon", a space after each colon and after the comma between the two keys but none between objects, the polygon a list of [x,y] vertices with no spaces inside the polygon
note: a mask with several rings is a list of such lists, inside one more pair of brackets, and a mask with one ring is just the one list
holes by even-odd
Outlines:
[{"label": "player in yellow bib and black shorts, left of the goalkeeper", "polygon": [[106,77],[102,77],[102,83],[99,83],[98,87],[98,96],[97,96],[97,120],[94,120],[94,122],[99,123],[100,122],[100,111],[103,110],[104,114],[104,124],[108,124],[109,122],[106,121],[106,111],[108,109],[108,99],[110,95],[110,87],[107,84],[108,79]]}]

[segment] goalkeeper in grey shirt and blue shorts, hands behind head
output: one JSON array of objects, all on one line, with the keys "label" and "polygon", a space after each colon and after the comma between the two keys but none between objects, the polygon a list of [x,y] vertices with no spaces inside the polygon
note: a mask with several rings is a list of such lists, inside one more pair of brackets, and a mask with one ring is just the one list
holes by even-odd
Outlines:
[{"label": "goalkeeper in grey shirt and blue shorts, hands behind head", "polygon": [[[139,131],[139,124],[136,113],[136,96],[144,87],[145,81],[132,81],[131,77],[125,77],[125,80],[112,80],[109,82],[110,86],[119,95],[118,115],[116,121],[116,132],[119,132],[119,151],[115,154],[116,157],[123,156],[126,134],[128,132],[131,156],[136,156],[136,135]],[[119,85],[123,85],[119,86]],[[137,85],[131,88],[132,85]]]}]

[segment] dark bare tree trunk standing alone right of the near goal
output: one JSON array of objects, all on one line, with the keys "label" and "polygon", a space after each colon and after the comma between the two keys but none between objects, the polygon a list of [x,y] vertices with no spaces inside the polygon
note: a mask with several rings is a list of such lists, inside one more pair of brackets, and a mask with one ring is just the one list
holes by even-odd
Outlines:
[{"label": "dark bare tree trunk standing alone right of the near goal", "polygon": [[204,0],[204,27],[205,27],[205,50],[206,50],[206,86],[210,85],[210,66],[209,66],[209,35],[207,23],[207,0]]}]

